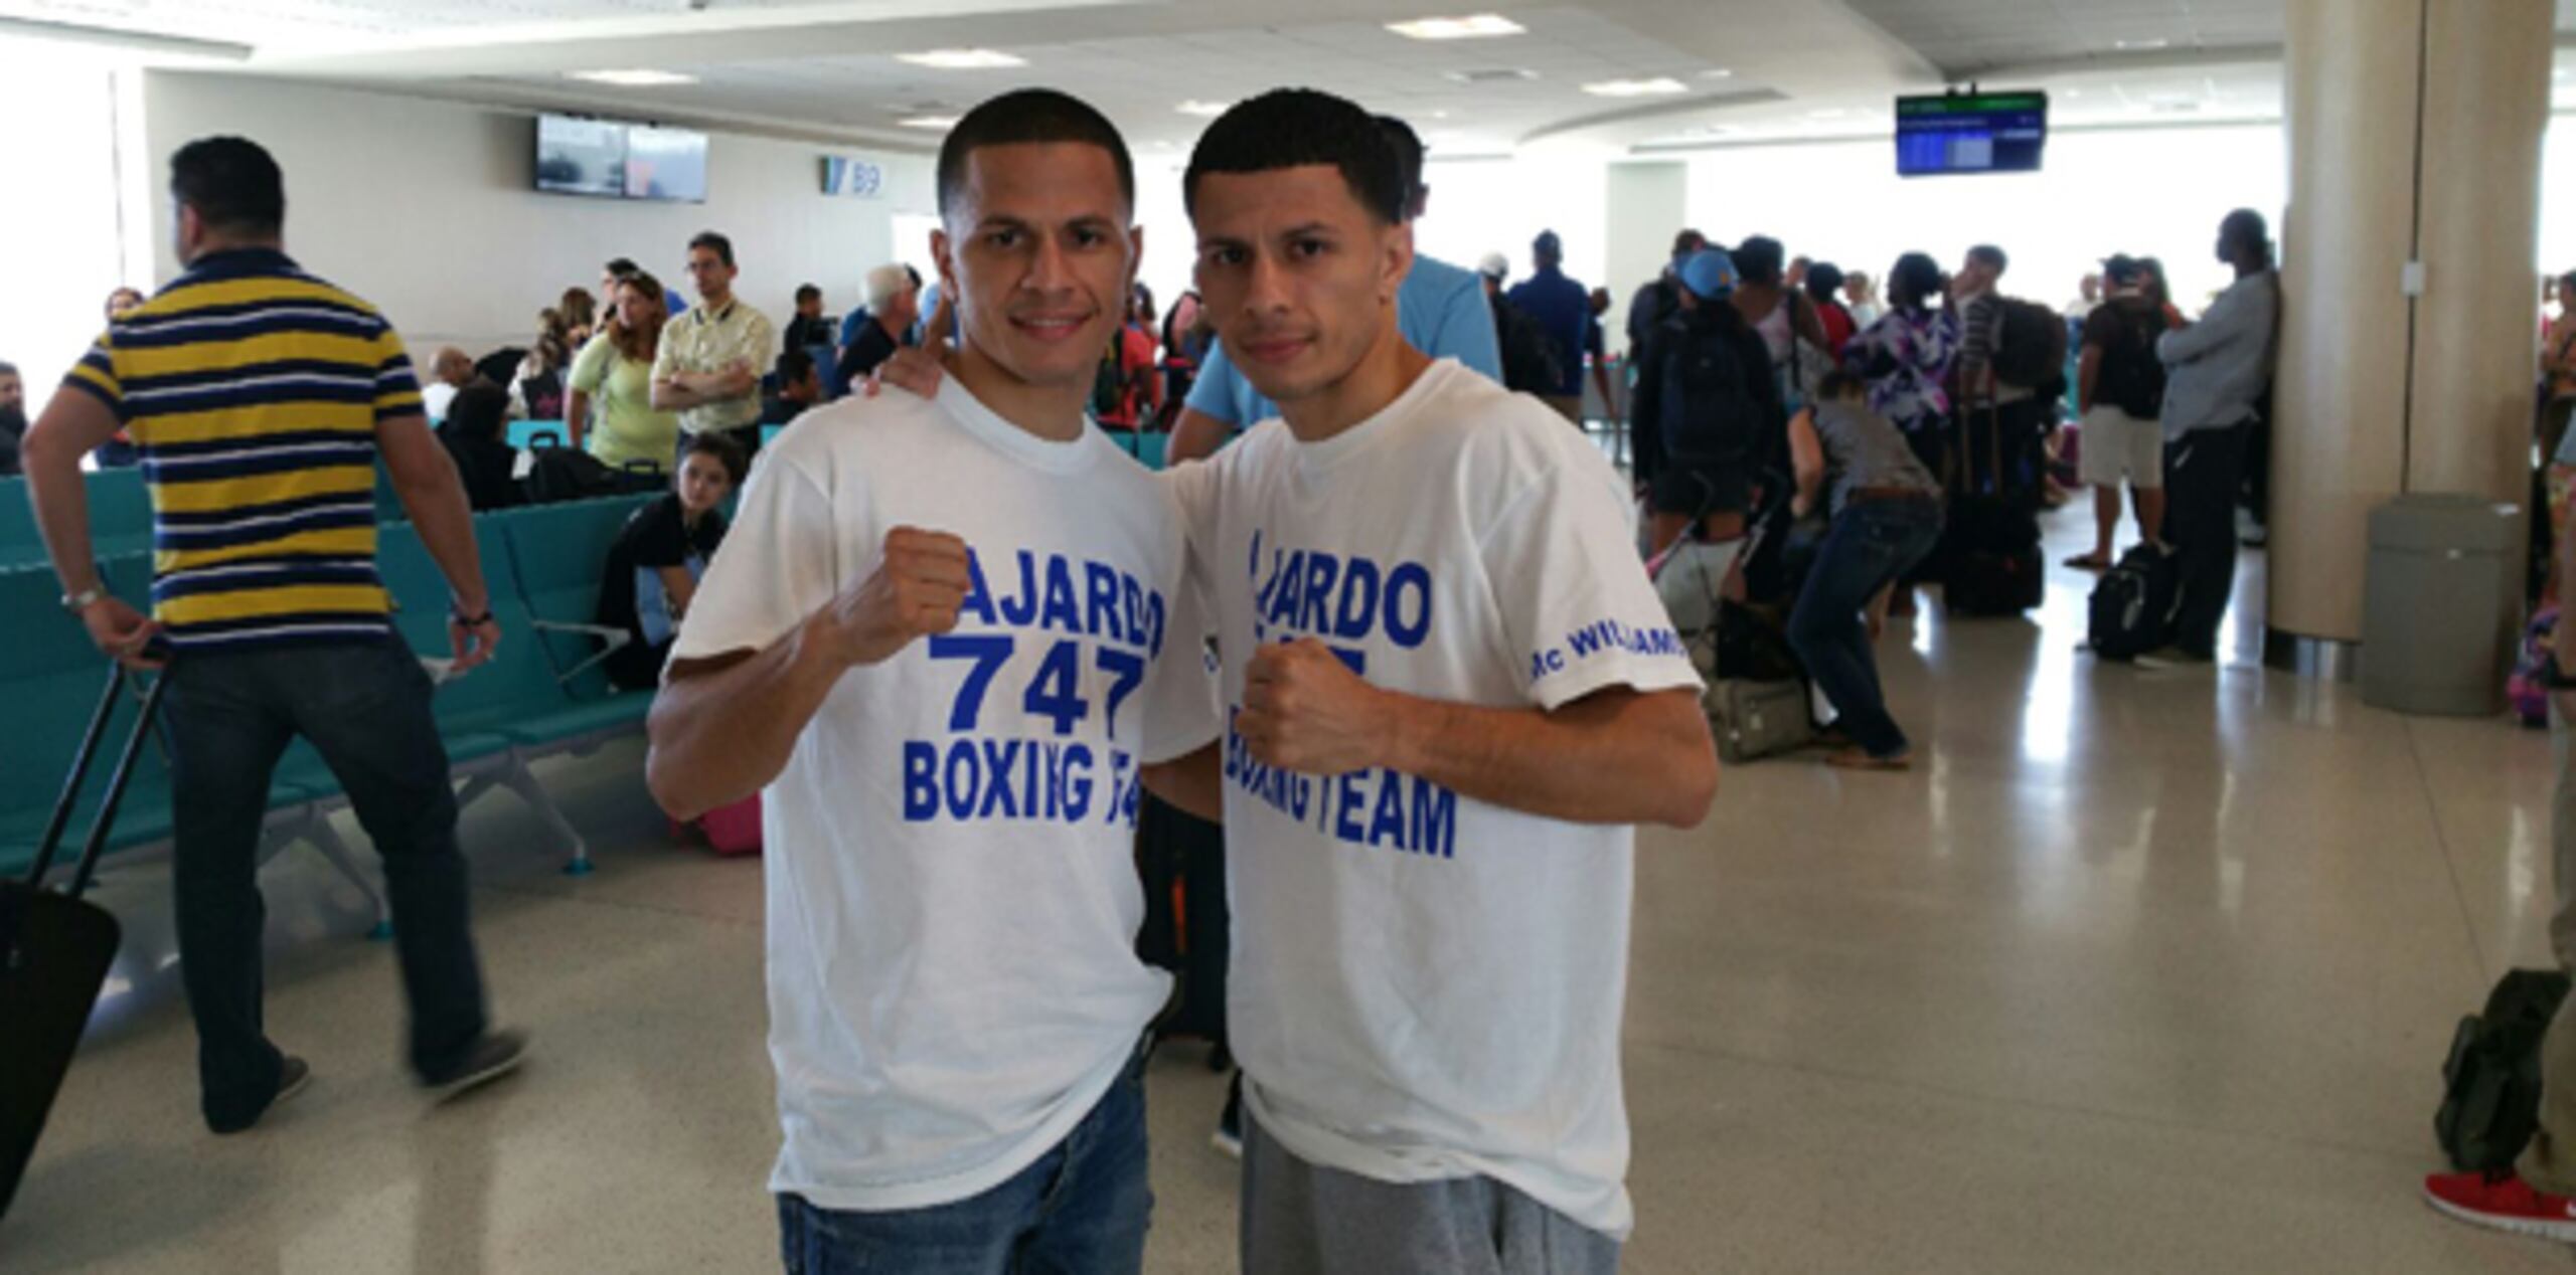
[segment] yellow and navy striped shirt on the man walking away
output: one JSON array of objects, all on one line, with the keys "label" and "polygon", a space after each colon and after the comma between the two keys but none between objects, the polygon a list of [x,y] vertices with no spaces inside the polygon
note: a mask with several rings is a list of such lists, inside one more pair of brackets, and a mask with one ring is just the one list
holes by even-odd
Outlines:
[{"label": "yellow and navy striped shirt on the man walking away", "polygon": [[276,250],[198,258],[64,376],[142,448],[152,616],[180,649],[389,631],[376,422],[420,415],[402,337]]}]

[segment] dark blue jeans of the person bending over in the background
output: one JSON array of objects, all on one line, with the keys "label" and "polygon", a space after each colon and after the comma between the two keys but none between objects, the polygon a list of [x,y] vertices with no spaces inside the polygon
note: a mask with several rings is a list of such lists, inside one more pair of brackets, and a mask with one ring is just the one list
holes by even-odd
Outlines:
[{"label": "dark blue jeans of the person bending over in the background", "polygon": [[1901,757],[1906,732],[1888,716],[1860,616],[1878,590],[1909,572],[1940,541],[1940,500],[1860,500],[1834,515],[1816,564],[1788,616],[1788,641],[1842,713],[1837,724],[1870,757]]}]

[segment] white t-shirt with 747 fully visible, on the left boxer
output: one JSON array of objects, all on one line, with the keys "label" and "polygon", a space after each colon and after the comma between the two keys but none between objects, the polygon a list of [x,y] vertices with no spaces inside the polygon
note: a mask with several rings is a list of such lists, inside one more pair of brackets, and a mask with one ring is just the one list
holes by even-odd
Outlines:
[{"label": "white t-shirt with 747 fully visible, on the left boxer", "polygon": [[675,659],[770,647],[896,525],[974,549],[958,628],[850,670],[762,793],[770,1187],[822,1208],[963,1200],[1090,1115],[1170,992],[1136,958],[1136,768],[1218,726],[1170,492],[956,379],[765,448]]}]

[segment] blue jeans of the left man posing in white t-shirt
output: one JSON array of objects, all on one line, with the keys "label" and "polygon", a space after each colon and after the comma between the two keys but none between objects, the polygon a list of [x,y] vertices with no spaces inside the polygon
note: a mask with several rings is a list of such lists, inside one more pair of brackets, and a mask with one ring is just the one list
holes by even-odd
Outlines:
[{"label": "blue jeans of the left man posing in white t-shirt", "polygon": [[981,1195],[881,1213],[778,1198],[788,1275],[1131,1275],[1154,1216],[1146,1182],[1144,1053],[1074,1131]]}]

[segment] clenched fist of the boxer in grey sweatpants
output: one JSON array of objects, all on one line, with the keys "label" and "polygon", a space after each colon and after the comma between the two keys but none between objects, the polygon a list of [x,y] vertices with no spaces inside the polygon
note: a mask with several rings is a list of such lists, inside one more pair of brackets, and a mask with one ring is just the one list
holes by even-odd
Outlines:
[{"label": "clenched fist of the boxer in grey sweatpants", "polygon": [[1394,701],[1350,672],[1316,639],[1262,644],[1244,670],[1244,711],[1234,732],[1252,760],[1306,775],[1345,775],[1386,765]]}]

